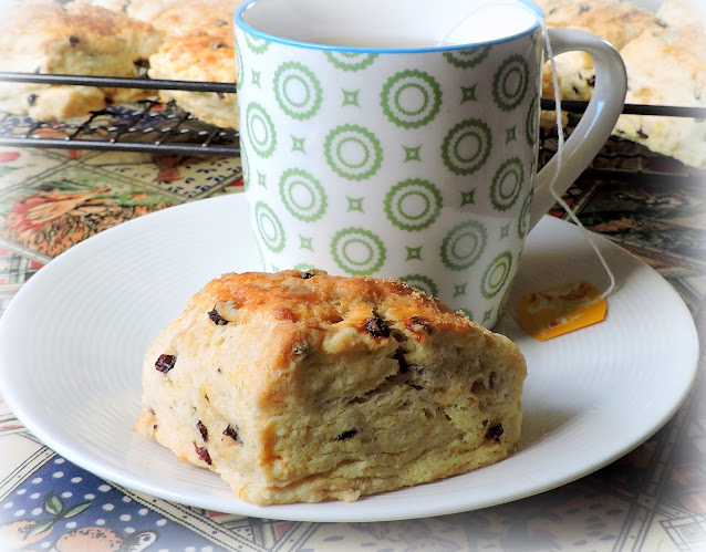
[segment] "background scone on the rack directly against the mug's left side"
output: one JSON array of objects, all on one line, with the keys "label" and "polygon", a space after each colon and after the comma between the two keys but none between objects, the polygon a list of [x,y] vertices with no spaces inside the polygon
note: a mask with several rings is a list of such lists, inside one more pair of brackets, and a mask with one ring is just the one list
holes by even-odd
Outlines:
[{"label": "background scone on the rack directly against the mug's left side", "polygon": [[[242,0],[181,2],[163,11],[154,25],[165,34],[149,59],[149,76],[177,81],[236,82],[232,15]],[[163,90],[163,102],[174,100],[195,117],[220,127],[237,128],[236,94]]]}]

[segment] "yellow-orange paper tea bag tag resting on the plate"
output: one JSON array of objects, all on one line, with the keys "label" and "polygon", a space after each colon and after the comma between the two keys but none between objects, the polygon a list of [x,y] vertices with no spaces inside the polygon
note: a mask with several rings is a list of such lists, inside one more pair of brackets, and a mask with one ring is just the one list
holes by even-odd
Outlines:
[{"label": "yellow-orange paper tea bag tag resting on the plate", "polygon": [[608,302],[588,282],[571,282],[520,298],[518,317],[539,341],[551,340],[605,320]]}]

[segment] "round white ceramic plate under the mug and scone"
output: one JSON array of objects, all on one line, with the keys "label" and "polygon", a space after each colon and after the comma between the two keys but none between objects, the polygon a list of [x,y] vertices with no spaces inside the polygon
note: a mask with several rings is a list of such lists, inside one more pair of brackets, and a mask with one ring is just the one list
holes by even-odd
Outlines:
[{"label": "round white ceramic plate under the mug and scone", "polygon": [[[499,329],[527,356],[521,449],[464,476],[357,502],[257,507],[221,479],[132,430],[147,343],[209,279],[258,270],[243,196],[174,207],[107,230],[34,275],[0,319],[0,389],[43,442],[89,471],[164,499],[269,519],[364,521],[437,515],[528,497],[624,455],[677,409],[697,337],[673,289],[599,239],[619,290],[608,320],[539,343]],[[513,295],[584,278],[603,285],[584,237],[546,217],[530,233]]]}]

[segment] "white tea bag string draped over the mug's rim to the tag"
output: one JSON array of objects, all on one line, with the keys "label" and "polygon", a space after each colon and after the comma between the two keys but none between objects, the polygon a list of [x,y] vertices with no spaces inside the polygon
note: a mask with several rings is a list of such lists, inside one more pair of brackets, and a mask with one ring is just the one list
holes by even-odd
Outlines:
[{"label": "white tea bag string draped over the mug's rim to the tag", "polygon": [[[448,30],[448,32],[446,32],[446,34],[442,39],[439,39],[439,41],[437,42],[437,45],[443,45],[445,42],[447,42],[448,39],[466,21],[468,21],[477,11],[488,6],[488,2],[484,2],[482,0],[477,1],[475,3],[476,6],[470,8],[468,12],[466,12],[466,15],[464,15],[455,25],[453,25]],[[615,290],[615,275],[613,274],[613,271],[611,270],[608,261],[605,260],[605,257],[603,256],[599,247],[595,244],[595,241],[593,237],[591,236],[591,232],[586,230],[586,228],[583,226],[583,223],[581,222],[577,213],[573,211],[573,209],[569,206],[569,204],[564,201],[564,199],[561,197],[560,194],[557,192],[557,189],[556,189],[557,178],[559,174],[561,173],[562,159],[563,159],[563,153],[564,153],[564,131],[563,131],[563,125],[561,121],[561,95],[559,93],[559,76],[557,73],[557,63],[554,62],[554,54],[552,52],[551,42],[549,40],[549,32],[547,30],[547,25],[544,24],[543,19],[539,17],[539,14],[534,12],[533,10],[530,10],[528,7],[523,6],[522,3],[513,2],[513,1],[494,2],[494,6],[498,6],[502,3],[507,6],[512,6],[515,8],[517,7],[522,8],[534,18],[534,20],[539,23],[542,30],[542,41],[544,43],[544,50],[547,51],[547,58],[549,58],[549,63],[551,66],[551,81],[554,87],[554,104],[556,104],[556,114],[557,114],[557,135],[558,135],[557,153],[554,154],[557,156],[557,166],[556,166],[556,170],[552,176],[552,179],[549,184],[549,191],[551,192],[557,204],[567,212],[571,221],[574,225],[577,225],[577,227],[579,227],[579,229],[581,230],[581,235],[595,252],[595,256],[599,258],[603,267],[603,270],[605,271],[609,278],[610,283],[608,288],[601,293],[599,298],[596,298],[596,301],[600,301],[601,299],[608,298]]]}]

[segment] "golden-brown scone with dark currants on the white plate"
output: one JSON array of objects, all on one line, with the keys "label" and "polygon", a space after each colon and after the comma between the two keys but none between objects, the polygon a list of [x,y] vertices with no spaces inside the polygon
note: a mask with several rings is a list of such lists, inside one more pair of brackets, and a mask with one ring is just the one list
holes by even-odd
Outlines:
[{"label": "golden-brown scone with dark currants on the white plate", "polygon": [[225,274],[150,344],[136,428],[250,502],[355,500],[506,458],[526,374],[396,280]]}]

